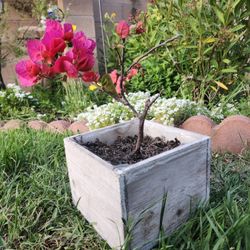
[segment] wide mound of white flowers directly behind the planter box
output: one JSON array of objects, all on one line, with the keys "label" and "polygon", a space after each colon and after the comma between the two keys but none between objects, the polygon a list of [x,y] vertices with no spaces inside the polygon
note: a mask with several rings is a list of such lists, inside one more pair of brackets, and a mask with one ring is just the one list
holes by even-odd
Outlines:
[{"label": "wide mound of white flowers directly behind the planter box", "polygon": [[[145,101],[150,98],[149,92],[129,93],[129,102],[142,111]],[[147,114],[147,119],[160,122],[168,126],[178,126],[193,115],[206,115],[216,122],[220,122],[228,115],[238,114],[239,110],[234,104],[221,104],[214,106],[211,110],[194,101],[186,99],[159,97]],[[133,119],[133,113],[123,104],[113,101],[101,106],[89,107],[80,113],[77,121],[87,120],[90,129],[98,129],[116,123]]]}]

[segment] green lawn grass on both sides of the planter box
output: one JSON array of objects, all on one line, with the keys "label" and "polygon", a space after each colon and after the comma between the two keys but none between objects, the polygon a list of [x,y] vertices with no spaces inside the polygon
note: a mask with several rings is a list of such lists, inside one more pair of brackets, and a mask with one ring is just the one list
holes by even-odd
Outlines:
[{"label": "green lawn grass on both sides of the planter box", "polygon": [[[109,249],[72,205],[65,135],[0,132],[0,249]],[[211,200],[158,249],[250,249],[250,155],[214,155]]]}]

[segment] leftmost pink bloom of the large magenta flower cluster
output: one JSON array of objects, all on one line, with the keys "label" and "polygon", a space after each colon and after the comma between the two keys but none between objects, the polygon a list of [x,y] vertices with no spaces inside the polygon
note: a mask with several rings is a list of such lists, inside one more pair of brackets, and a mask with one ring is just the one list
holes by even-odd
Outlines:
[{"label": "leftmost pink bloom of the large magenta flower cluster", "polygon": [[40,80],[41,69],[31,60],[22,60],[16,65],[16,73],[21,85],[30,87]]}]

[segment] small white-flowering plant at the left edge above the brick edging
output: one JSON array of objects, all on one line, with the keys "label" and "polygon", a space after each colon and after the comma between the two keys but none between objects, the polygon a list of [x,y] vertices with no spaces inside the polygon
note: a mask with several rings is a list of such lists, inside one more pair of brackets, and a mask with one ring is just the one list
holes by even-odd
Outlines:
[{"label": "small white-flowering plant at the left edge above the brick edging", "polygon": [[9,83],[0,90],[0,119],[27,118],[36,116],[39,102],[31,93],[23,91],[18,85]]}]

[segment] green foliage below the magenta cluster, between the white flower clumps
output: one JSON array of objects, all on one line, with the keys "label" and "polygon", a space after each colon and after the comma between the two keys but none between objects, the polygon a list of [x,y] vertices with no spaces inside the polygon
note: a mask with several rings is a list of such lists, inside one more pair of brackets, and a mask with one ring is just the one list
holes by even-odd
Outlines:
[{"label": "green foliage below the magenta cluster, between the white flower clumps", "polygon": [[102,105],[110,100],[104,93],[90,91],[81,80],[62,82],[56,77],[35,85],[32,94],[39,101],[38,117],[45,121],[72,119],[94,103]]}]

